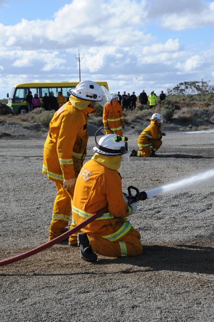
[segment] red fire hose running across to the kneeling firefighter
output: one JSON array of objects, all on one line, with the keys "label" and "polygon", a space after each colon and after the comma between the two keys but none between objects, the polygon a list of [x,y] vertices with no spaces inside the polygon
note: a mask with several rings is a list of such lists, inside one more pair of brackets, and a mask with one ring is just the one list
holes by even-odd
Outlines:
[{"label": "red fire hose running across to the kneeling firefighter", "polygon": [[26,252],[26,253],[22,253],[22,254],[19,254],[17,256],[10,257],[10,258],[7,258],[5,260],[0,261],[0,266],[5,266],[5,265],[11,264],[11,263],[21,261],[24,258],[30,257],[30,256],[32,256],[34,254],[37,254],[37,253],[40,253],[40,252],[46,250],[47,248],[50,248],[51,246],[59,243],[59,241],[64,240],[66,237],[68,237],[71,234],[73,234],[74,232],[80,230],[82,227],[86,226],[91,221],[93,221],[96,218],[100,217],[105,212],[108,212],[108,208],[102,208],[101,210],[97,211],[92,216],[90,216],[89,218],[85,219],[84,221],[82,221],[80,224],[78,224],[74,228],[64,232],[60,236],[48,241],[47,243],[45,243],[45,244],[43,244],[43,245],[41,245],[39,247],[36,247],[36,248]]}]

